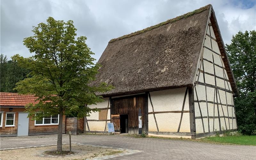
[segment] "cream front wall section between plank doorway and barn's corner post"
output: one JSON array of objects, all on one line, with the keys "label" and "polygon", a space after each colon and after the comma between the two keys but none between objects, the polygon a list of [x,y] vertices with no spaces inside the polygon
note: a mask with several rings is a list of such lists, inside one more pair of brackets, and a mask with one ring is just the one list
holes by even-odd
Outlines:
[{"label": "cream front wall section between plank doorway and barn's corner post", "polygon": [[149,135],[169,137],[181,137],[186,132],[187,138],[191,138],[187,87],[149,92],[148,131]]}]

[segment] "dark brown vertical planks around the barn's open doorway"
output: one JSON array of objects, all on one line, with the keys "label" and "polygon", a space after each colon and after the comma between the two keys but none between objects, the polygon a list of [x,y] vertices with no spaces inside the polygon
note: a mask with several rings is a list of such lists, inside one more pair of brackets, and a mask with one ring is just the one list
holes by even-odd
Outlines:
[{"label": "dark brown vertical planks around the barn's open doorway", "polygon": [[[138,134],[139,133],[139,120],[138,113],[139,108],[141,108],[142,113],[142,124],[145,120],[145,100],[146,95],[136,95],[130,97],[121,97],[111,99],[111,115],[128,115],[128,133]],[[144,130],[144,125],[142,125],[142,130]]]}]

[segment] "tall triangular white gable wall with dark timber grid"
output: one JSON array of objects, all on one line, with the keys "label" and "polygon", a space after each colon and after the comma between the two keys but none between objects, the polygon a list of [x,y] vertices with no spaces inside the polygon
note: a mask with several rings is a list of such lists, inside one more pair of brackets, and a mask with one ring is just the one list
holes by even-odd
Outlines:
[{"label": "tall triangular white gable wall with dark timber grid", "polygon": [[206,33],[194,87],[196,133],[236,129],[232,89],[212,26]]}]

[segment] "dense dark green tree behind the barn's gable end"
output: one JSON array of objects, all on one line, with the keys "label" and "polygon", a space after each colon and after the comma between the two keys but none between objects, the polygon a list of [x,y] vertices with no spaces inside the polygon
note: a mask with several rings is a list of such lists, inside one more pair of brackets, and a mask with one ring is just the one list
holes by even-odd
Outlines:
[{"label": "dense dark green tree behind the barn's gable end", "polygon": [[238,129],[256,134],[256,31],[239,31],[226,50],[240,91],[234,99]]}]

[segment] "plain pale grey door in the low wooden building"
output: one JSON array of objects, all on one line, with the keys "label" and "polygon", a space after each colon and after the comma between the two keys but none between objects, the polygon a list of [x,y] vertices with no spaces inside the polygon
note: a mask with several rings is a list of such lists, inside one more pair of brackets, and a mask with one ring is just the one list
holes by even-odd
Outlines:
[{"label": "plain pale grey door in the low wooden building", "polygon": [[19,113],[17,136],[28,135],[28,113]]}]

